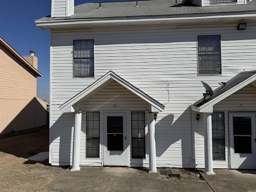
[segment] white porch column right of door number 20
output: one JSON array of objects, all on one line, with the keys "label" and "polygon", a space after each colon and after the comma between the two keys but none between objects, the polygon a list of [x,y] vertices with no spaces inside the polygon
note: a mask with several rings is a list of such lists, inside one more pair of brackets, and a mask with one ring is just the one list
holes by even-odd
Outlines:
[{"label": "white porch column right of door number 20", "polygon": [[157,173],[154,113],[148,113],[148,132],[150,135],[149,173]]}]

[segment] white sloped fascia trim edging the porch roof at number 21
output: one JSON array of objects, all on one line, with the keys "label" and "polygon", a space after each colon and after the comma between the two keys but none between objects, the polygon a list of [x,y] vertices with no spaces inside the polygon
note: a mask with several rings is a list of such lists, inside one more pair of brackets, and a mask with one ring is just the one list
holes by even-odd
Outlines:
[{"label": "white sloped fascia trim edging the porch roof at number 21", "polygon": [[196,111],[196,112],[208,112],[208,113],[212,113],[213,112],[213,106],[215,104],[217,104],[218,102],[222,101],[223,99],[227,98],[228,96],[232,95],[234,92],[240,90],[241,88],[243,88],[244,86],[250,84],[251,82],[256,80],[256,74],[250,76],[249,78],[247,78],[246,80],[240,82],[239,84],[237,84],[236,86],[230,88],[229,90],[226,90],[225,92],[223,92],[222,94],[220,94],[219,96],[217,96],[216,98],[213,98],[212,100],[206,102],[205,104],[203,104],[202,106],[190,106],[192,111]]}]

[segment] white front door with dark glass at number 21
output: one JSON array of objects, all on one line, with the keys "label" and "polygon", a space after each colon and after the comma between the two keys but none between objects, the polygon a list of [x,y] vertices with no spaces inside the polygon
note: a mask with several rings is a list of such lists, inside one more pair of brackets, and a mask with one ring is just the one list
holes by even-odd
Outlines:
[{"label": "white front door with dark glass at number 21", "polygon": [[230,168],[256,169],[255,113],[229,113]]}]

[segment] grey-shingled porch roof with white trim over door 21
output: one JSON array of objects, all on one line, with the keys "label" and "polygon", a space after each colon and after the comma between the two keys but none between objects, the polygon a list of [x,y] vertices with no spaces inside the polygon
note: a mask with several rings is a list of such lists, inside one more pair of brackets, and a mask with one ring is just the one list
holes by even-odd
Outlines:
[{"label": "grey-shingled porch roof with white trim over door 21", "polygon": [[[240,90],[244,86],[251,84],[256,80],[256,70],[240,72],[232,79],[226,82],[226,85],[222,84],[213,91],[212,97],[206,96],[206,100],[201,98],[197,102],[191,105],[193,111],[197,112],[209,112],[212,113],[213,106],[230,96],[234,92]],[[252,84],[254,87],[256,85]]]}]

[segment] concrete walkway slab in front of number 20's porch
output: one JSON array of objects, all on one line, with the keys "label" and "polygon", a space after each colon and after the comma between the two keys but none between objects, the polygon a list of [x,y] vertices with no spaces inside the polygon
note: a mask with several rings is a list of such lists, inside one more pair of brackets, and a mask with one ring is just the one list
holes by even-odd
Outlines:
[{"label": "concrete walkway slab in front of number 20's porch", "polygon": [[212,192],[204,180],[166,179],[147,169],[127,167],[89,167],[67,169],[47,191],[51,192]]}]

